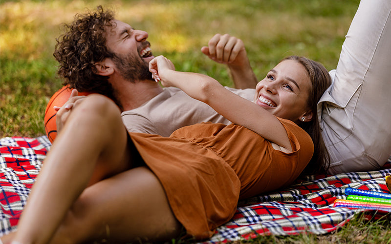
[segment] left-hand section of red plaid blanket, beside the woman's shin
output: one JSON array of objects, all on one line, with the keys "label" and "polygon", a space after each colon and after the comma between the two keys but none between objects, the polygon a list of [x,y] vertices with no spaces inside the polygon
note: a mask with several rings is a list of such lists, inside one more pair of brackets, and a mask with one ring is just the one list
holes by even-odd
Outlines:
[{"label": "left-hand section of red plaid blanket, beside the woman's shin", "polygon": [[0,236],[16,228],[50,145],[47,137],[0,139]]}]

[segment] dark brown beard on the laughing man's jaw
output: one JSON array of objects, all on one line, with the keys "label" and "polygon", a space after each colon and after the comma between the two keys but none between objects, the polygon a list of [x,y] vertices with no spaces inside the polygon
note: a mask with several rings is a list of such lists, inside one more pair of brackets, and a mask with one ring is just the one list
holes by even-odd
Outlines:
[{"label": "dark brown beard on the laughing man's jaw", "polygon": [[128,81],[144,81],[151,80],[152,73],[149,71],[148,63],[140,57],[135,57],[132,54],[121,55],[114,54],[113,61],[117,66],[120,74]]}]

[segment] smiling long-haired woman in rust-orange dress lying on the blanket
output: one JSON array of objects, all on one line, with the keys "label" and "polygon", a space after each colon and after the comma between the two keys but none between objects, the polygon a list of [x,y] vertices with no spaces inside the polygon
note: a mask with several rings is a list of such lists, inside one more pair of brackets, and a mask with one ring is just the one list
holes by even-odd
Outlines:
[{"label": "smiling long-haired woman in rust-orange dress lying on the blanket", "polygon": [[[162,56],[150,71],[233,124],[196,124],[170,138],[128,134],[113,102],[88,96],[73,104],[18,231],[4,243],[164,241],[181,235],[182,227],[187,236],[207,238],[234,215],[239,199],[289,185],[311,158],[310,171],[326,166],[319,163],[327,160],[316,103],[331,80],[321,64],[282,60],[257,84],[254,102],[210,77],[174,71]],[[110,199],[118,190],[134,198]]]}]

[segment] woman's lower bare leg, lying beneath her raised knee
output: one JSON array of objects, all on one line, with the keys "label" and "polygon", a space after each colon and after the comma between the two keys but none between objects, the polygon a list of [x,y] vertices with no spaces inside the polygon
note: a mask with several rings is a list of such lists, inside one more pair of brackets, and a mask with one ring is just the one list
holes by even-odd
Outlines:
[{"label": "woman's lower bare leg, lying beneath her raised knee", "polygon": [[137,167],[88,187],[51,243],[168,241],[181,230],[159,180]]}]

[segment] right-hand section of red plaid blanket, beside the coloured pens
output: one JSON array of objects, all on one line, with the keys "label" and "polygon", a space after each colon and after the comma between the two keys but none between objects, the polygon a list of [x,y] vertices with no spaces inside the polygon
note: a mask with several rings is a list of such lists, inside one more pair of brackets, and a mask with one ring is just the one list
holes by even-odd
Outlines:
[{"label": "right-hand section of red plaid blanket, beside the coloured pens", "polygon": [[204,243],[226,243],[259,235],[326,234],[357,214],[370,211],[333,207],[335,199],[346,199],[347,187],[388,193],[384,180],[387,173],[391,173],[391,157],[379,171],[311,175],[289,188],[239,202],[232,220],[218,227]]}]

